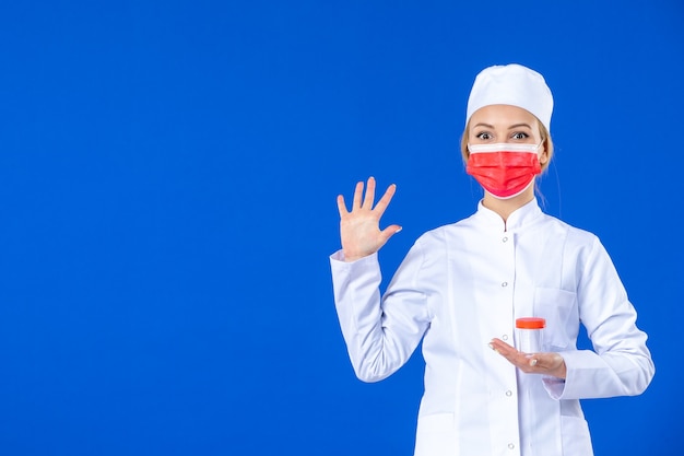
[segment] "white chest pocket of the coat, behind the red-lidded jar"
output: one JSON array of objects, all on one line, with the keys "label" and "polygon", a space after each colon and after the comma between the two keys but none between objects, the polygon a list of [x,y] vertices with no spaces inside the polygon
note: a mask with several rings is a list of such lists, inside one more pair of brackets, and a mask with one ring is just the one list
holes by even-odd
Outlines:
[{"label": "white chest pocket of the coat, behind the red-lidded jar", "polygon": [[574,292],[536,288],[534,315],[546,319],[543,348],[545,351],[575,349],[579,332],[577,295]]}]

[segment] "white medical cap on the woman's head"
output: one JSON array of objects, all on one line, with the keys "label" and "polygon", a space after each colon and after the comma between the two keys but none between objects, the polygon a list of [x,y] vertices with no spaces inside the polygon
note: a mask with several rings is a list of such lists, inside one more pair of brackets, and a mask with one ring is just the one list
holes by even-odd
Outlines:
[{"label": "white medical cap on the woman's head", "polygon": [[488,105],[512,105],[527,109],[551,131],[553,96],[544,78],[534,70],[516,63],[482,70],[470,91],[465,124],[475,110]]}]

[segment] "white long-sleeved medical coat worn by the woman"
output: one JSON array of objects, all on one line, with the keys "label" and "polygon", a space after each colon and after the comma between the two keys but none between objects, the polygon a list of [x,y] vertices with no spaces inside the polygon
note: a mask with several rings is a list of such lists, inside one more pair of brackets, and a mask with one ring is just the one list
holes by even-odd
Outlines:
[{"label": "white long-sleeved medical coat worn by the woman", "polygon": [[[647,336],[599,239],[532,201],[507,226],[482,203],[421,236],[380,296],[377,255],[330,258],[358,378],[400,369],[423,340],[425,393],[415,456],[590,456],[580,398],[637,395],[654,369]],[[514,344],[515,320],[546,318],[567,379],[519,372],[487,346]],[[577,350],[580,321],[593,351]]]}]

